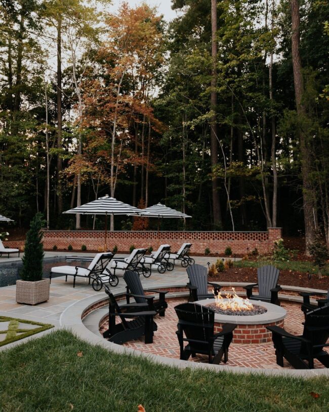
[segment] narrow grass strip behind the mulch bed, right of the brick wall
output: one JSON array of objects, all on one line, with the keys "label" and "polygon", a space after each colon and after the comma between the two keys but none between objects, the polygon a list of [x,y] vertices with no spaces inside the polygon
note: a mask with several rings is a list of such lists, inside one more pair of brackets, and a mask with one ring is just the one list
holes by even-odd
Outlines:
[{"label": "narrow grass strip behind the mulch bed, right of the brick wall", "polygon": [[[292,270],[293,272],[310,272],[311,274],[317,274],[317,267],[309,261],[303,260],[289,260],[289,261],[280,261],[280,260],[237,260],[234,262],[235,268],[258,268],[263,265],[274,265],[280,270]],[[326,265],[322,270],[322,275],[329,275],[329,265]]]}]

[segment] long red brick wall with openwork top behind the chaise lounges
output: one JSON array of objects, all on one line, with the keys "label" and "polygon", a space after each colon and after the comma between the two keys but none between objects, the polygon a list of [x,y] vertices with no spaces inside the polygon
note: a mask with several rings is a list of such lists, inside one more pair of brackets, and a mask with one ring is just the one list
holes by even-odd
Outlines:
[{"label": "long red brick wall with openwork top behind the chaise lounges", "polygon": [[[157,249],[168,243],[172,251],[177,251],[182,243],[192,243],[191,253],[204,253],[209,247],[212,253],[223,254],[230,246],[233,253],[245,254],[257,248],[261,253],[270,252],[273,242],[281,237],[280,228],[269,228],[268,232],[109,232],[107,246],[112,250],[116,245],[120,252],[126,252],[132,245],[135,247],[150,246]],[[81,250],[86,245],[88,250],[98,250],[104,246],[103,231],[46,231],[44,233],[45,249],[67,249],[72,245],[74,250]]]}]

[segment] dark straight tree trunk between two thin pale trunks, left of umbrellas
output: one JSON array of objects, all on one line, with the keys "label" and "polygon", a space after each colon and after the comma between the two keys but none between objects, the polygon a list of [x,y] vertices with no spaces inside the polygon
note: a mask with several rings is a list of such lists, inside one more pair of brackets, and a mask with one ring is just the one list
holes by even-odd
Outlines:
[{"label": "dark straight tree trunk between two thin pale trunks, left of umbrellas", "polygon": [[63,193],[62,193],[62,22],[61,17],[57,21],[57,206],[58,214],[63,211]]}]

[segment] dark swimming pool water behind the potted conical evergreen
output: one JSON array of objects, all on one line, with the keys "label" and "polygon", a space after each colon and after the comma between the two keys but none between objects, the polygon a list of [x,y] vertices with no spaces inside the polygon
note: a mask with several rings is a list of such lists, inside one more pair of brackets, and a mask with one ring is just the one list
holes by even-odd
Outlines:
[{"label": "dark swimming pool water behind the potted conical evergreen", "polygon": [[[65,256],[48,257],[44,259],[43,277],[49,278],[50,270],[54,266],[80,266],[88,268],[89,264],[89,261],[66,260]],[[19,273],[22,270],[22,266],[22,262],[0,263],[0,287],[16,285],[16,280],[20,279]],[[63,275],[55,273],[52,275],[53,278],[59,276]]]}]

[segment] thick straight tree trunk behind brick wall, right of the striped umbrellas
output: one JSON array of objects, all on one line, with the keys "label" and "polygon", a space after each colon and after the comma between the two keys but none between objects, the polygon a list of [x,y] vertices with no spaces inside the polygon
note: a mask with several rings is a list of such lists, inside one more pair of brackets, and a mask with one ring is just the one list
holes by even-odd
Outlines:
[{"label": "thick straight tree trunk behind brick wall, right of the striped umbrellas", "polygon": [[[212,0],[212,78],[211,78],[211,102],[210,107],[214,115],[211,118],[210,126],[210,160],[211,166],[214,167],[218,164],[218,133],[217,133],[217,0]],[[214,213],[214,228],[219,229],[222,227],[222,213],[221,204],[219,198],[219,179],[217,177],[212,178],[212,192],[213,192],[213,213]]]}]

